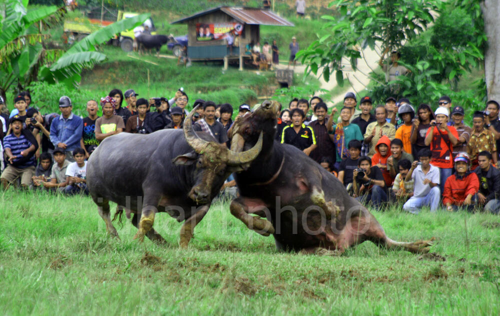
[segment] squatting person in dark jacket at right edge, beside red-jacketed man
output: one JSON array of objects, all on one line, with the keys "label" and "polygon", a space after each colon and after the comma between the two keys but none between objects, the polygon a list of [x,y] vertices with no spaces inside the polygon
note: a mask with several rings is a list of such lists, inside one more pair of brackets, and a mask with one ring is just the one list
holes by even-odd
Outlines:
[{"label": "squatting person in dark jacket at right edge, beside red-jacketed man", "polygon": [[500,171],[491,165],[491,153],[481,151],[477,155],[478,166],[474,172],[479,178],[476,205],[484,205],[484,210],[493,214],[500,211]]}]

